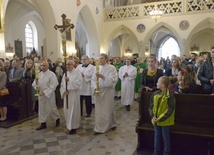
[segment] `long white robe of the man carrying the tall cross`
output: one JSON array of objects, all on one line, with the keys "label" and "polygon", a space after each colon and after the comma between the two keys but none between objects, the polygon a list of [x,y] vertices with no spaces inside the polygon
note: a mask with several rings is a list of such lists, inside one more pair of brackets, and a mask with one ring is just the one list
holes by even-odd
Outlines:
[{"label": "long white robe of the man carrying the tall cross", "polygon": [[61,97],[64,98],[64,115],[66,120],[66,126],[68,130],[77,129],[80,127],[80,89],[82,86],[82,75],[75,68],[72,71],[67,71],[67,82],[68,94],[68,108],[66,95],[63,95],[66,90],[65,74],[62,78],[60,93]]}]

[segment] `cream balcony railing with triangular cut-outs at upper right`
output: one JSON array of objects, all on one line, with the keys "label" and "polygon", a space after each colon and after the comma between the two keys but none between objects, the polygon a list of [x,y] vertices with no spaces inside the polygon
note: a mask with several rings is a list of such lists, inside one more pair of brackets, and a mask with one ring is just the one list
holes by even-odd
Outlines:
[{"label": "cream balcony railing with triangular cut-outs at upper right", "polygon": [[106,8],[104,10],[105,21],[122,20],[129,18],[144,18],[149,12],[158,8],[163,15],[178,15],[190,13],[214,12],[213,0],[173,0],[139,5]]}]

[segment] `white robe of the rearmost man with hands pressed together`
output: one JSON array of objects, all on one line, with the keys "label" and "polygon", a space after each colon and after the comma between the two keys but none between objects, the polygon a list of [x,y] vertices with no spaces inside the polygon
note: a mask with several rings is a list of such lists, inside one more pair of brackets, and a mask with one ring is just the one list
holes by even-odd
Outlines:
[{"label": "white robe of the rearmost man with hands pressed together", "polygon": [[[124,76],[128,73],[128,77]],[[137,69],[132,66],[122,66],[119,69],[119,78],[121,79],[121,103],[123,105],[130,105],[134,99],[134,85],[137,76]]]}]

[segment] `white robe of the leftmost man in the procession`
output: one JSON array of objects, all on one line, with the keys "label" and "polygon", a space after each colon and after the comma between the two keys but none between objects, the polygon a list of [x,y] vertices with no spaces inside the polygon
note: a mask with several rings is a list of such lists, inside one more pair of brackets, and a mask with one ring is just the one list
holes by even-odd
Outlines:
[{"label": "white robe of the leftmost man in the procession", "polygon": [[[58,85],[56,75],[49,69],[46,72],[39,73],[39,92],[43,92],[43,96],[38,97],[39,101],[39,123],[45,123],[50,117],[56,121],[59,116],[59,111],[56,106],[55,90]],[[32,86],[36,89],[36,80]]]}]

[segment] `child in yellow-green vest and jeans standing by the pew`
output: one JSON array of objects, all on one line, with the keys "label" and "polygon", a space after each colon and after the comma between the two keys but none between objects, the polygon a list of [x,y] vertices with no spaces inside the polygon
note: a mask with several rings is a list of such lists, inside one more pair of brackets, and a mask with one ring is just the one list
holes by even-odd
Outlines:
[{"label": "child in yellow-green vest and jeans standing by the pew", "polygon": [[169,78],[158,79],[157,90],[150,99],[149,114],[154,125],[154,155],[161,154],[161,138],[163,138],[163,154],[170,153],[169,127],[174,125],[175,103],[174,95],[170,93]]}]

